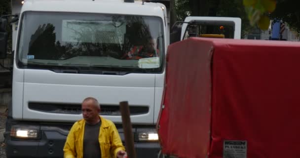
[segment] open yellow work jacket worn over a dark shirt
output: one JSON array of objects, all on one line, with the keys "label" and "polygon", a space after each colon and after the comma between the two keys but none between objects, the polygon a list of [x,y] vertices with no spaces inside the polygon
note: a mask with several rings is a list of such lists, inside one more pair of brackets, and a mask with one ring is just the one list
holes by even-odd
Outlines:
[{"label": "open yellow work jacket worn over a dark shirt", "polygon": [[[101,126],[98,140],[100,143],[101,157],[116,158],[118,151],[125,151],[119,133],[111,120],[102,117],[100,117],[100,119]],[[76,121],[72,126],[64,146],[64,158],[83,157],[84,125],[85,120],[81,119]]]}]

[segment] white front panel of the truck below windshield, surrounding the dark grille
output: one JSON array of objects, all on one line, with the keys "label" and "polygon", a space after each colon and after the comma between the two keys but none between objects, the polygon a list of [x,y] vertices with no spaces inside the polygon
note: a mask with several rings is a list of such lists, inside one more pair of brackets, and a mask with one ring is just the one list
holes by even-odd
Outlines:
[{"label": "white front panel of the truck below windshield, surrounding the dark grille", "polygon": [[[54,76],[55,79],[52,79]],[[152,124],[154,110],[159,111],[159,107],[154,107],[154,78],[155,76],[150,74],[110,76],[57,74],[47,70],[25,70],[23,118],[72,122],[82,118],[82,115],[38,112],[30,110],[26,105],[29,102],[80,104],[82,99],[92,96],[105,105],[118,106],[119,102],[128,101],[130,106],[149,107],[148,114],[131,116],[131,121]],[[159,99],[159,97],[155,99]],[[105,118],[116,123],[122,122],[120,116],[105,116]]]}]

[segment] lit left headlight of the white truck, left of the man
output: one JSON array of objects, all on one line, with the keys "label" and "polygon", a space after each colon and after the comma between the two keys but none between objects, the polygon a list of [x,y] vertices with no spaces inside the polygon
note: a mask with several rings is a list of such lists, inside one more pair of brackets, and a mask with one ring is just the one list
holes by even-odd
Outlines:
[{"label": "lit left headlight of the white truck, left of the man", "polygon": [[10,129],[10,136],[15,138],[38,138],[38,130],[26,129],[26,128],[14,128]]}]

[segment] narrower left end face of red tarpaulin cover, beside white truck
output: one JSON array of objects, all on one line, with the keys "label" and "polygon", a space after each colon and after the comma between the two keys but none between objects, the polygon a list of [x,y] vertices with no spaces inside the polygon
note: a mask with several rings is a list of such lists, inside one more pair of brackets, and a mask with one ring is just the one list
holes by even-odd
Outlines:
[{"label": "narrower left end face of red tarpaulin cover, beside white truck", "polygon": [[165,108],[158,130],[163,153],[182,158],[207,155],[212,48],[212,42],[197,40],[184,40],[168,48]]}]

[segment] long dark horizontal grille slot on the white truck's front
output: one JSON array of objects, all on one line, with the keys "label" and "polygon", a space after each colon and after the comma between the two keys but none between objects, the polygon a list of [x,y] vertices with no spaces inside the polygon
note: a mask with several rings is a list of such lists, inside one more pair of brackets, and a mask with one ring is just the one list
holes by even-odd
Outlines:
[{"label": "long dark horizontal grille slot on the white truck's front", "polygon": [[[80,104],[33,103],[28,104],[29,109],[56,114],[82,114]],[[149,107],[129,106],[130,115],[142,115],[149,112]],[[121,116],[118,105],[102,105],[100,115]]]}]

